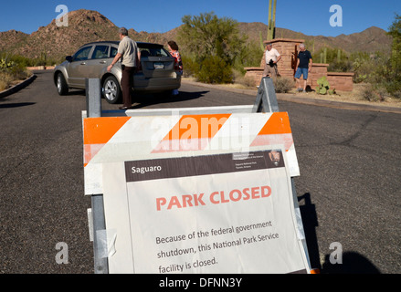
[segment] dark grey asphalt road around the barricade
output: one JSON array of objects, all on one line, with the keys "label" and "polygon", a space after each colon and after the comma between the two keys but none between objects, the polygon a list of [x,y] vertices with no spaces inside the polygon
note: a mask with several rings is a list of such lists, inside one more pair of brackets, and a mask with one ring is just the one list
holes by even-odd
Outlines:
[{"label": "dark grey asphalt road around the barricade", "polygon": [[[141,97],[136,108],[255,99],[189,85],[181,91],[175,99]],[[290,114],[312,266],[323,273],[400,273],[401,115],[279,105]],[[90,198],[83,195],[85,107],[83,91],[58,97],[50,72],[37,72],[29,87],[0,99],[0,273],[93,273]],[[59,242],[68,244],[67,265],[56,262]],[[334,242],[343,247],[343,265],[328,264]]]}]

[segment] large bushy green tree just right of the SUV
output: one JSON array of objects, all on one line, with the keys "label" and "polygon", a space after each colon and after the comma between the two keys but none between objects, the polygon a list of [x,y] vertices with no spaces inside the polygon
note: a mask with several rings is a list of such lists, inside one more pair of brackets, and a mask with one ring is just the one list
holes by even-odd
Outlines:
[{"label": "large bushy green tree just right of the SUV", "polygon": [[239,35],[237,21],[219,18],[214,12],[184,16],[182,21],[178,41],[192,73],[203,82],[231,82],[232,67],[246,42]]}]

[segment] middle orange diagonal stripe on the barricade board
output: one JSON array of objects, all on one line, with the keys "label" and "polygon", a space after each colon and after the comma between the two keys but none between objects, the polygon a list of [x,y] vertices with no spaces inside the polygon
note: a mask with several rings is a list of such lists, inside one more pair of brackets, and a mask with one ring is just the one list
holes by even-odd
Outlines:
[{"label": "middle orange diagonal stripe on the barricade board", "polygon": [[231,114],[187,115],[174,125],[164,141],[213,138]]}]

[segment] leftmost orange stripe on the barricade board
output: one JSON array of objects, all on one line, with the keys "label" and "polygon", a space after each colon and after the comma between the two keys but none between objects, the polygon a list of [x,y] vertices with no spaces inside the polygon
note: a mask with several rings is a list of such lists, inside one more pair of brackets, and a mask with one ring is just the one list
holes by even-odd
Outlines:
[{"label": "leftmost orange stripe on the barricade board", "polygon": [[130,117],[88,118],[83,126],[83,143],[106,144]]}]

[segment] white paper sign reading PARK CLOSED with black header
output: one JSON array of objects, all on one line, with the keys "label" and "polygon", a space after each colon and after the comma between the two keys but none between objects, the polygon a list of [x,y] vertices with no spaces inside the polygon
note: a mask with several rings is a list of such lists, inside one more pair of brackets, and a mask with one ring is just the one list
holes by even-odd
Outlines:
[{"label": "white paper sign reading PARK CLOSED with black header", "polygon": [[110,272],[309,272],[284,153],[103,164]]}]

